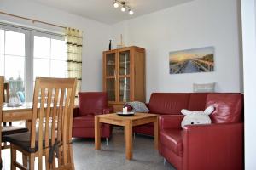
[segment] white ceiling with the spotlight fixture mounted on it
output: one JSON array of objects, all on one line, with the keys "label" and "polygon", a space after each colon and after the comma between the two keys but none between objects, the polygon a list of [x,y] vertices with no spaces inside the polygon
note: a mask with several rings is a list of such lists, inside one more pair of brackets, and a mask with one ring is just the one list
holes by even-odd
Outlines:
[{"label": "white ceiling with the spotlight fixture mounted on it", "polygon": [[114,24],[122,20],[130,20],[143,14],[149,14],[160,9],[169,8],[192,0],[124,0],[134,14],[121,12],[113,8],[113,0],[32,0],[49,7],[59,8],[71,14],[77,14],[91,20],[106,24]]}]

